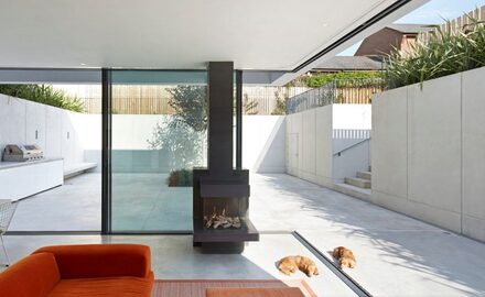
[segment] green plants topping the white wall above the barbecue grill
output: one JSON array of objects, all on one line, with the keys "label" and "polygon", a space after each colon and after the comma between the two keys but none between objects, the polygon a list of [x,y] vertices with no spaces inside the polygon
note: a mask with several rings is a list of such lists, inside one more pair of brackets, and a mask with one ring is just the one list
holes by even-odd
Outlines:
[{"label": "green plants topping the white wall above the barbecue grill", "polygon": [[78,98],[71,97],[47,85],[0,85],[0,94],[71,111],[84,111],[83,103]]}]

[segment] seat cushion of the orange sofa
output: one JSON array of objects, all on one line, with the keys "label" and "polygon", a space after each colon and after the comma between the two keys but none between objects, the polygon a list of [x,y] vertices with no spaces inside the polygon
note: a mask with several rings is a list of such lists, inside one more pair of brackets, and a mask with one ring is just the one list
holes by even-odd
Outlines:
[{"label": "seat cushion of the orange sofa", "polygon": [[47,297],[146,297],[151,296],[153,275],[62,279]]}]

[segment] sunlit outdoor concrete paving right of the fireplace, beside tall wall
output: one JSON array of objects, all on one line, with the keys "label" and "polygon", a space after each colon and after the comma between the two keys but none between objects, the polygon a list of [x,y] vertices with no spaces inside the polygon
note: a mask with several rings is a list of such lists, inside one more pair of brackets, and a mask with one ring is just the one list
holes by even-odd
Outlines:
[{"label": "sunlit outdoor concrete paving right of the fireplace, beside tall wall", "polygon": [[251,187],[259,229],[298,230],[324,253],[352,249],[357,266],[345,272],[374,296],[485,296],[484,243],[288,175]]}]

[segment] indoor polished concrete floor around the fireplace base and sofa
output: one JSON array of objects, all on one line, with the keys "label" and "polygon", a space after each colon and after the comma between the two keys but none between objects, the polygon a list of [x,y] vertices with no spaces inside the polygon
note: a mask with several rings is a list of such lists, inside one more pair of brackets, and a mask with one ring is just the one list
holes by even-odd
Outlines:
[{"label": "indoor polished concrete floor around the fireplace base and sofa", "polygon": [[[355,296],[325,265],[319,276],[281,274],[276,262],[291,254],[317,261],[291,234],[265,234],[249,243],[241,255],[207,255],[192,248],[190,235],[9,235],[7,248],[13,261],[52,244],[140,243],[151,246],[152,270],[159,279],[291,279],[304,278],[317,296]],[[3,258],[1,257],[0,261]]]}]

